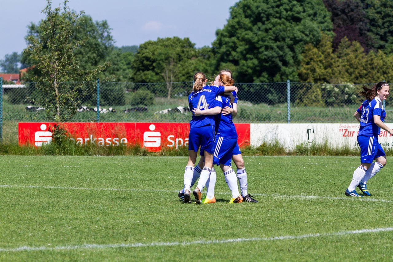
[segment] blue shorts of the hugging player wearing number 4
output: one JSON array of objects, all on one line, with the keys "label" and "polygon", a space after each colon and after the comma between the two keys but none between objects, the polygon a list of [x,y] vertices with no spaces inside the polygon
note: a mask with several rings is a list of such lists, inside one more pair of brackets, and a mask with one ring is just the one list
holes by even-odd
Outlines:
[{"label": "blue shorts of the hugging player wearing number 4", "polygon": [[215,142],[215,126],[199,126],[190,128],[188,135],[188,150],[198,151],[199,147],[202,152],[213,154]]}]

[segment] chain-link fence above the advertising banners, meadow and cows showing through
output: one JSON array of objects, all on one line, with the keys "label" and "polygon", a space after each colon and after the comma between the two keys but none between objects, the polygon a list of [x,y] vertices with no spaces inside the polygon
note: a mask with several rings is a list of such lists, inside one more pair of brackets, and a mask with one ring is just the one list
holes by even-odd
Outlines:
[{"label": "chain-link fence above the advertising banners, meadow and cows showing through", "polygon": [[[2,84],[0,78],[0,85],[0,139],[4,128],[4,140],[16,141],[5,133],[13,133],[18,122],[53,121],[48,108],[53,109],[53,103],[48,105],[48,94],[52,92],[48,83]],[[184,123],[190,120],[187,97],[192,85],[193,82],[119,83],[99,79],[65,82],[59,85],[59,91],[73,90],[76,102],[60,111],[63,116],[70,114],[66,117],[68,122]],[[288,80],[235,86],[239,89],[235,123],[352,123],[353,113],[363,101],[358,91],[372,84]]]}]

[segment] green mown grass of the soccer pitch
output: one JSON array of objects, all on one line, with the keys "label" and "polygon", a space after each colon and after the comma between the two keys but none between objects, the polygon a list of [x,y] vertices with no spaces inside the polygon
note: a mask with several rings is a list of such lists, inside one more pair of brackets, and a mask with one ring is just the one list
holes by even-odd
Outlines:
[{"label": "green mown grass of the soccer pitch", "polygon": [[245,157],[248,192],[183,204],[187,157],[1,156],[0,261],[391,261],[393,157],[344,191],[358,157]]}]

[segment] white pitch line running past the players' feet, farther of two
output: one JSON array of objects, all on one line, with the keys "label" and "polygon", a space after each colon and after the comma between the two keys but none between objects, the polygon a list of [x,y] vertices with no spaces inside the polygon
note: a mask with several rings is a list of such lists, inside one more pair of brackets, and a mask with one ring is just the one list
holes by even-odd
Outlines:
[{"label": "white pitch line running past the players' feet, farther of two", "polygon": [[[4,187],[15,187],[15,188],[37,188],[37,189],[66,189],[66,190],[92,190],[92,191],[151,191],[151,192],[178,192],[173,190],[160,190],[160,189],[122,189],[122,188],[88,188],[88,187],[52,187],[52,186],[34,186],[34,185],[0,185],[0,188]],[[215,192],[218,195],[229,195],[229,192]],[[384,202],[392,203],[392,201],[384,199],[376,199],[370,197],[354,198],[354,197],[332,197],[332,196],[307,196],[306,193],[301,193],[300,195],[290,196],[290,195],[280,195],[275,194],[253,194],[255,196],[268,196],[281,200],[290,199],[303,199],[303,200],[314,200],[314,199],[330,199],[330,200],[360,200],[360,201],[371,201],[371,202]]]}]

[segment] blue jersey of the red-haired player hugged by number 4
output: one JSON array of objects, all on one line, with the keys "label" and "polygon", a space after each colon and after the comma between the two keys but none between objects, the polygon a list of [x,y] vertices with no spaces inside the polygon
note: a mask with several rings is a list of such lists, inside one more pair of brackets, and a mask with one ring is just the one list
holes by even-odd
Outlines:
[{"label": "blue jersey of the red-haired player hugged by number 4", "polygon": [[[233,103],[237,103],[236,92],[232,92],[232,93],[233,93],[233,96],[235,97],[235,101]],[[228,95],[222,95],[222,108],[224,108],[226,106],[233,108],[233,106],[230,102],[230,97]],[[215,125],[216,125],[217,136],[237,138],[235,124],[233,124],[233,121],[232,121],[232,114],[216,115],[215,122],[216,122]]]}]

